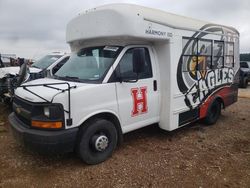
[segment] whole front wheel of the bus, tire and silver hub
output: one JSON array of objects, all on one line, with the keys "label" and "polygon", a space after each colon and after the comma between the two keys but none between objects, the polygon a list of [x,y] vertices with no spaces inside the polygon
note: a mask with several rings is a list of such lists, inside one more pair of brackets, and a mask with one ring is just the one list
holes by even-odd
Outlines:
[{"label": "whole front wheel of the bus, tire and silver hub", "polygon": [[118,135],[113,123],[95,119],[81,130],[78,153],[87,164],[98,164],[108,159],[117,145]]}]

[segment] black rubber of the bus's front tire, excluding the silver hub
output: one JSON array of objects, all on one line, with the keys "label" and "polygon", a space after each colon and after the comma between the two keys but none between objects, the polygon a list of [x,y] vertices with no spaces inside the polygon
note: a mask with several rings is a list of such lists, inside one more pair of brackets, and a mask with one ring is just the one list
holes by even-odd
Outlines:
[{"label": "black rubber of the bus's front tire, excluding the silver hub", "polygon": [[[84,125],[83,125],[84,126]],[[118,135],[113,123],[104,119],[96,119],[85,125],[81,130],[78,153],[87,164],[98,164],[108,159],[117,145]],[[95,151],[90,142],[96,132],[103,132],[109,140],[108,148],[104,151]]]}]

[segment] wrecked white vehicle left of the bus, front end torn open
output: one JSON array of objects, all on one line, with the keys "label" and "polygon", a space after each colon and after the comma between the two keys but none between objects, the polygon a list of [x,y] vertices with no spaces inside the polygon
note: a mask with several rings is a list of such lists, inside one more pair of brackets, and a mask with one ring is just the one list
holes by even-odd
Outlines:
[{"label": "wrecked white vehicle left of the bus, front end torn open", "polygon": [[53,52],[36,61],[31,67],[23,64],[23,68],[0,68],[1,101],[11,101],[15,88],[23,82],[43,78],[45,76],[52,76],[68,59],[69,55],[65,53]]}]

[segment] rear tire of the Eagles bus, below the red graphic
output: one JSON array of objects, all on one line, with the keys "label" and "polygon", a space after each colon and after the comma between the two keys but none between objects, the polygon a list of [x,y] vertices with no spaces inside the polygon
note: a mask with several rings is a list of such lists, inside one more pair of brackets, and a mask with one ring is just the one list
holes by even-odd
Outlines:
[{"label": "rear tire of the Eagles bus, below the red graphic", "polygon": [[213,125],[217,122],[221,114],[221,103],[215,100],[209,107],[207,116],[204,119],[206,125]]}]

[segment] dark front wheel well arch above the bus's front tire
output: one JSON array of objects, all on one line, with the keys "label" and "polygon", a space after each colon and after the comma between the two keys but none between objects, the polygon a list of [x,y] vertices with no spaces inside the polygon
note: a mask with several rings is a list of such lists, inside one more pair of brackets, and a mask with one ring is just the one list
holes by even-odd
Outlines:
[{"label": "dark front wheel well arch above the bus's front tire", "polygon": [[118,133],[118,145],[120,145],[123,142],[123,134],[122,134],[122,129],[121,129],[121,124],[119,119],[108,112],[104,112],[104,113],[100,113],[100,114],[96,114],[90,118],[88,118],[85,122],[83,122],[83,124],[81,126],[83,126],[86,122],[92,121],[93,119],[105,119],[108,120],[110,122],[112,122],[115,125],[115,128],[117,130]]}]

